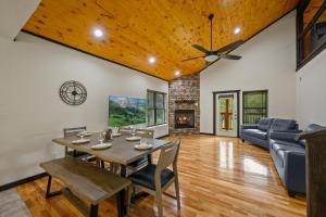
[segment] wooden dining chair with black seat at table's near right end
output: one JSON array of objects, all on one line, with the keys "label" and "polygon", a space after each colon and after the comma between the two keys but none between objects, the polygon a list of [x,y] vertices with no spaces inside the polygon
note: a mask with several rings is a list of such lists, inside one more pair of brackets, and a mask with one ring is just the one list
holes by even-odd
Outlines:
[{"label": "wooden dining chair with black seat at table's near right end", "polygon": [[[180,209],[179,182],[177,171],[177,159],[180,140],[176,140],[162,148],[158,165],[149,164],[128,178],[133,181],[131,187],[156,196],[159,217],[163,217],[162,195],[168,195],[177,201],[177,208]],[[170,169],[172,165],[173,169]],[[164,193],[172,184],[175,184],[176,196]],[[131,193],[128,194],[128,205]]]}]

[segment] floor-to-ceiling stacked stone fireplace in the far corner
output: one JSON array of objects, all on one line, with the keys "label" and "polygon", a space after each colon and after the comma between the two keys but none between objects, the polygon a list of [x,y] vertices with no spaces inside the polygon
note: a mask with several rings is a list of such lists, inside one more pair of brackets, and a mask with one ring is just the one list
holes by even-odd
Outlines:
[{"label": "floor-to-ceiling stacked stone fireplace in the far corner", "polygon": [[168,84],[168,133],[200,133],[199,75],[177,78]]}]

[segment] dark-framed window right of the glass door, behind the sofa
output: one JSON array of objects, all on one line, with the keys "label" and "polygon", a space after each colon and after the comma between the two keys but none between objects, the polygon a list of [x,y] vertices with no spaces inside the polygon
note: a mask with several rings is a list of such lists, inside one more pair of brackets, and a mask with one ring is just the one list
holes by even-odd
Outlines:
[{"label": "dark-framed window right of the glass door, behind the sofa", "polygon": [[242,124],[258,124],[267,117],[267,90],[242,92]]}]

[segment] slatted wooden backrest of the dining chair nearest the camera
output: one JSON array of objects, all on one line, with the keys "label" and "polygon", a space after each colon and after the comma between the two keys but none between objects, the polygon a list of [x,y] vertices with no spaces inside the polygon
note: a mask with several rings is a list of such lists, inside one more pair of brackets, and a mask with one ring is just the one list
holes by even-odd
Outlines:
[{"label": "slatted wooden backrest of the dining chair nearest the camera", "polygon": [[180,140],[178,139],[162,148],[155,174],[156,173],[161,174],[162,169],[165,169],[172,164],[174,167],[176,166],[178,154],[179,154],[179,146],[180,146]]}]

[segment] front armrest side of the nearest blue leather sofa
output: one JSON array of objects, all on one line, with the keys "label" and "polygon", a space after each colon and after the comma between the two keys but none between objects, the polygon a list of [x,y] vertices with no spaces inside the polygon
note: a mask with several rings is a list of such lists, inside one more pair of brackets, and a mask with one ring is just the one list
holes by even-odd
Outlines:
[{"label": "front armrest side of the nearest blue leather sofa", "polygon": [[285,152],[285,184],[290,191],[305,192],[305,153]]}]

